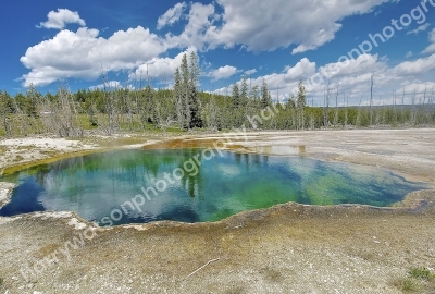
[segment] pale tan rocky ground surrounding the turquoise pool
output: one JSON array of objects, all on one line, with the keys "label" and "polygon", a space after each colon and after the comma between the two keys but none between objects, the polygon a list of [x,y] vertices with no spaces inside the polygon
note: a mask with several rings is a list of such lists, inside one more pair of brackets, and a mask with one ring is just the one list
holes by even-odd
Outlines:
[{"label": "pale tan rocky ground surrounding the turquoise pool", "polygon": [[[430,128],[198,139],[191,135],[160,146],[212,146],[212,139],[221,139],[237,151],[370,164],[435,183],[435,130]],[[73,152],[107,148],[101,142],[75,144]],[[20,146],[27,145],[0,142],[0,160],[11,152],[32,158],[45,148]],[[0,293],[434,293],[432,279],[409,271],[435,269],[435,191],[413,193],[398,207],[286,204],[216,223],[112,229],[71,212],[0,218]]]}]

